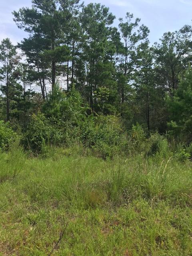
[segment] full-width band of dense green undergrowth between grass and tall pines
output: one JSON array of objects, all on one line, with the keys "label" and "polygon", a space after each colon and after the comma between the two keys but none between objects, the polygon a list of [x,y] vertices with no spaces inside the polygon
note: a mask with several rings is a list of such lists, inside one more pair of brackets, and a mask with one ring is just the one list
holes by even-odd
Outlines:
[{"label": "full-width band of dense green undergrowth between grass and tall pines", "polygon": [[149,131],[140,124],[129,128],[125,120],[116,115],[104,115],[92,111],[82,97],[73,90],[66,95],[58,86],[49,94],[36,113],[28,116],[28,122],[0,121],[0,149],[8,151],[18,141],[30,156],[48,156],[49,148],[79,145],[83,151],[103,159],[116,155],[129,157],[134,154],[162,157],[172,156],[181,161],[192,157],[192,144],[184,138],[168,133]]}]

